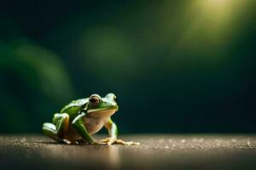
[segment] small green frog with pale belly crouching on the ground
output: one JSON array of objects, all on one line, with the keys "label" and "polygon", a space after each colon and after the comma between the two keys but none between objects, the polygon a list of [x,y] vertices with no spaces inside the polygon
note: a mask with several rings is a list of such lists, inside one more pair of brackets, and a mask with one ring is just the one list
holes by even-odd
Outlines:
[{"label": "small green frog with pale belly crouching on the ground", "polygon": [[[65,105],[54,114],[52,122],[44,122],[42,131],[50,139],[64,144],[138,145],[118,139],[118,127],[111,118],[117,111],[119,105],[115,94],[109,93],[105,97],[91,94],[89,98],[76,99]],[[102,127],[108,129],[109,137],[96,141],[92,135]]]}]

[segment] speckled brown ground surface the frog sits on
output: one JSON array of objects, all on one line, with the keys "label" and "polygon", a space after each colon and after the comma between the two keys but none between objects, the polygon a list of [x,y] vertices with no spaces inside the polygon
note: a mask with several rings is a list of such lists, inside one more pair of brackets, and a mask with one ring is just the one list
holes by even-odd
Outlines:
[{"label": "speckled brown ground surface the frog sits on", "polygon": [[[101,139],[102,136],[96,136]],[[256,136],[124,135],[142,144],[67,145],[40,135],[0,136],[1,169],[256,169]]]}]

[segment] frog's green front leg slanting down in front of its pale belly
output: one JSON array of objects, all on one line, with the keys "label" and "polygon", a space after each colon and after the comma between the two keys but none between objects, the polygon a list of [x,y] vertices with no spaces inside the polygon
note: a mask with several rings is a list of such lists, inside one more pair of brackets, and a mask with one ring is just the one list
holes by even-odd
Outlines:
[{"label": "frog's green front leg slanting down in front of its pale belly", "polygon": [[97,143],[96,140],[90,136],[90,134],[84,127],[84,122],[83,122],[82,118],[85,115],[86,114],[84,112],[82,112],[79,116],[76,116],[76,118],[72,122],[74,129],[77,131],[77,133],[79,133],[79,135],[82,137],[84,142],[89,143],[89,144],[100,144],[100,143]]}]

